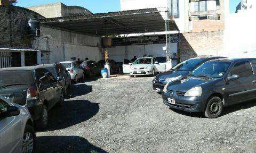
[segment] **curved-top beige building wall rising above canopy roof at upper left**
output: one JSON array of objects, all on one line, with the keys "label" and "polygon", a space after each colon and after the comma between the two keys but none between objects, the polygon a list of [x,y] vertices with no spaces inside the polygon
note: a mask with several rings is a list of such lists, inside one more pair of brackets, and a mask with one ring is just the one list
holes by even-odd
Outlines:
[{"label": "curved-top beige building wall rising above canopy roof at upper left", "polygon": [[28,7],[29,10],[35,11],[45,18],[57,18],[61,16],[70,16],[74,14],[91,14],[89,10],[80,6],[67,6],[62,3],[53,3]]}]

